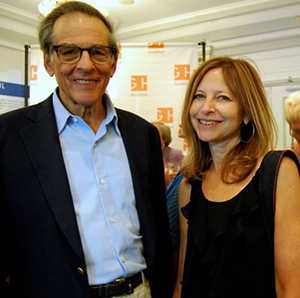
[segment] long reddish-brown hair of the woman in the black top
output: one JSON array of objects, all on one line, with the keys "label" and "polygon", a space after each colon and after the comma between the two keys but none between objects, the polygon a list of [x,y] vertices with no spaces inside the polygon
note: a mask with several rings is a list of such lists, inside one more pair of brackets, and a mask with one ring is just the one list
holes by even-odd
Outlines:
[{"label": "long reddish-brown hair of the woman in the black top", "polygon": [[194,94],[203,77],[214,68],[221,68],[226,85],[240,103],[250,122],[242,123],[243,135],[252,135],[251,141],[240,141],[225,156],[221,177],[225,183],[235,183],[245,179],[254,169],[257,159],[277,142],[277,126],[268,103],[263,83],[256,69],[246,60],[230,57],[216,57],[202,63],[194,72],[187,86],[181,123],[189,153],[183,161],[183,173],[187,179],[203,179],[212,160],[207,142],[202,142],[194,130],[189,110]]}]

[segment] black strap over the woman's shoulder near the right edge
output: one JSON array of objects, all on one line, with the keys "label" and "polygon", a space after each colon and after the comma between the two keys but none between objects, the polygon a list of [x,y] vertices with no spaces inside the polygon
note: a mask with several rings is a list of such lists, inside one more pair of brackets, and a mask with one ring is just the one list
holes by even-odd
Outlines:
[{"label": "black strap over the woman's shoulder near the right edge", "polygon": [[300,166],[296,155],[290,151],[268,152],[259,169],[259,197],[262,205],[263,217],[270,240],[271,252],[273,253],[274,243],[274,215],[276,209],[276,183],[280,163],[284,156],[290,157],[296,163],[299,175]]}]

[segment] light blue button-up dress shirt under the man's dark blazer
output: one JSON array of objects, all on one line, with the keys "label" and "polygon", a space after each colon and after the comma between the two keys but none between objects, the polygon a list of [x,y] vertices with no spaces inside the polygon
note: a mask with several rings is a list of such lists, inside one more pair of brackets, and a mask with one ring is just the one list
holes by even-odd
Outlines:
[{"label": "light blue button-up dress shirt under the man's dark blazer", "polygon": [[90,285],[146,268],[129,163],[118,117],[107,95],[97,133],[66,110],[56,92],[53,106],[71,187]]}]

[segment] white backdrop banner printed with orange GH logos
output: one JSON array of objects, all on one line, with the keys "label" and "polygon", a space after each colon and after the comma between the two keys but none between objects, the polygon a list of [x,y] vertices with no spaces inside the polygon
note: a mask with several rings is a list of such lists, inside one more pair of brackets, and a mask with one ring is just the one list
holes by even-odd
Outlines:
[{"label": "white backdrop banner printed with orange GH logos", "polygon": [[[172,130],[172,147],[183,149],[177,137],[188,80],[198,66],[195,43],[119,44],[117,71],[107,88],[115,106]],[[45,99],[56,82],[43,66],[43,54],[31,46],[30,104]]]}]

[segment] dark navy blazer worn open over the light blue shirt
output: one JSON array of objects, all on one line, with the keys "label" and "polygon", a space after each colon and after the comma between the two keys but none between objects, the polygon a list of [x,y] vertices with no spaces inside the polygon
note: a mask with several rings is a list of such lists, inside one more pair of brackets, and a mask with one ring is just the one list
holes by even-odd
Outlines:
[{"label": "dark navy blazer worn open over the light blue shirt", "polygon": [[[117,114],[152,297],[171,297],[172,250],[157,130],[130,112],[117,109]],[[0,156],[0,277],[10,275],[12,297],[88,298],[86,264],[51,96],[0,116]],[[8,296],[0,290],[0,297]]]}]

